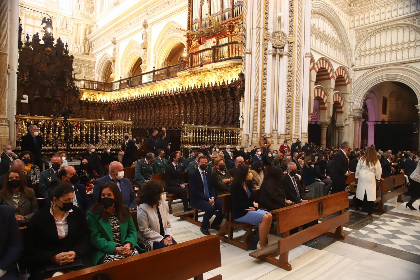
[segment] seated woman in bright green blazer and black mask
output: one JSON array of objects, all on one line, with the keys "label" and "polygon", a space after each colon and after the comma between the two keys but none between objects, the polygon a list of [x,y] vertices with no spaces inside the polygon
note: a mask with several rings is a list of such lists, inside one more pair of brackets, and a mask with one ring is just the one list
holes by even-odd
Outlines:
[{"label": "seated woman in bright green blazer and black mask", "polygon": [[104,264],[143,253],[137,246],[137,230],[129,209],[121,201],[114,182],[105,183],[98,202],[87,213],[93,264]]}]

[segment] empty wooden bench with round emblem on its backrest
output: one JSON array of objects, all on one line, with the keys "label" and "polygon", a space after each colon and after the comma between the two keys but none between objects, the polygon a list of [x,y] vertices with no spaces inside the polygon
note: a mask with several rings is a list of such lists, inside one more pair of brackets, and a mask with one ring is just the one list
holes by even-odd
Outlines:
[{"label": "empty wooden bench with round emblem on its backrest", "polygon": [[[341,191],[336,194],[323,196],[271,211],[270,213],[276,214],[277,233],[283,233],[283,238],[279,239],[278,243],[249,253],[249,256],[274,264],[285,270],[291,270],[291,264],[289,264],[289,250],[322,234],[340,239],[346,238],[343,234],[343,225],[349,221],[350,213],[344,212],[344,209],[347,207],[349,207],[348,194],[346,191]],[[333,216],[328,220],[312,225],[311,227],[292,235],[289,234],[289,231],[293,228],[297,228],[322,217],[327,217],[336,212],[339,212],[339,215]],[[335,232],[330,231],[334,228],[336,228]],[[280,255],[278,259],[274,256],[270,256],[270,254],[276,252]]]}]

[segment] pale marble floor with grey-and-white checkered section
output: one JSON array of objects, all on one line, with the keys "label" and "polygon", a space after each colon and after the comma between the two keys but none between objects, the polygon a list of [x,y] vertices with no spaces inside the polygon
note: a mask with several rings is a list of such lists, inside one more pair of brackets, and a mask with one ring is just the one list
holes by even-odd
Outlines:
[{"label": "pale marble floor with grey-and-white checkered section", "polygon": [[[418,209],[419,204],[417,200],[413,206]],[[387,213],[372,216],[350,207],[350,221],[344,226],[346,239],[338,241],[323,235],[292,249],[291,271],[254,259],[248,255],[251,251],[220,241],[222,266],[205,273],[204,279],[218,274],[232,280],[420,279],[420,211],[405,209],[405,203],[386,205]],[[172,207],[174,213],[182,211],[180,203]],[[178,243],[203,236],[198,226],[173,215],[171,223]],[[210,229],[210,233],[216,231]],[[269,244],[278,238],[272,228]]]}]

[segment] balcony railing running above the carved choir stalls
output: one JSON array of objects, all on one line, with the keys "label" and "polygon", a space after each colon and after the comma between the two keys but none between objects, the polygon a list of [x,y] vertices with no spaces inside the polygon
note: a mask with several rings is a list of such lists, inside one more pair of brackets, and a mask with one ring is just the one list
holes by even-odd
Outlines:
[{"label": "balcony railing running above the carved choir stalls", "polygon": [[191,52],[185,57],[179,58],[179,64],[169,65],[160,69],[154,69],[136,76],[131,76],[111,83],[91,81],[87,79],[75,80],[79,89],[90,89],[101,92],[113,92],[121,89],[127,89],[133,86],[154,83],[164,79],[177,77],[178,71],[188,68],[215,63],[229,59],[242,58],[242,44],[236,41],[228,42],[218,46],[213,46],[197,52]]}]

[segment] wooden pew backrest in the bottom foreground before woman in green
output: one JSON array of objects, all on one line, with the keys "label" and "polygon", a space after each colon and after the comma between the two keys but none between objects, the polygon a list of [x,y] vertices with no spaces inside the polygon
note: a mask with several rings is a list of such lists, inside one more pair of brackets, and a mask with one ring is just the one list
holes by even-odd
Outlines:
[{"label": "wooden pew backrest in the bottom foreground before woman in green", "polygon": [[[210,235],[48,279],[91,280],[98,273],[106,273],[113,280],[202,280],[205,272],[221,265],[219,238]],[[222,279],[222,275],[210,279]]]}]

